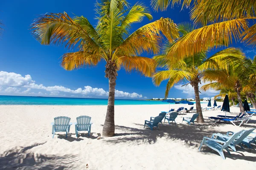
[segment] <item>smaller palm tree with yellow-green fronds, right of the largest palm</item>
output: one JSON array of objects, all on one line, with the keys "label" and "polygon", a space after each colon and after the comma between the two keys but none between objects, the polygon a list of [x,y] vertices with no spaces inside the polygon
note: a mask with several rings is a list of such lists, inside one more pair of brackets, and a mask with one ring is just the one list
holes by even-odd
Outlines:
[{"label": "smaller palm tree with yellow-green fronds, right of the largest palm", "polygon": [[176,43],[179,43],[180,39],[186,38],[187,34],[190,34],[195,29],[196,27],[191,23],[178,24],[180,38],[175,42],[166,42],[163,54],[154,57],[158,66],[166,70],[157,72],[157,74],[153,76],[153,82],[155,85],[160,85],[163,80],[168,79],[165,98],[168,97],[169,90],[180,81],[187,82],[186,85],[192,85],[195,92],[196,109],[199,114],[198,122],[202,123],[204,122],[204,118],[201,110],[199,83],[201,84],[204,77],[208,79],[213,77],[216,74],[215,69],[225,69],[227,65],[226,62],[233,59],[240,59],[243,55],[241,51],[236,48],[227,48],[219,51],[208,59],[206,52],[194,54],[183,59],[178,54],[174,57],[169,57],[170,48],[175,46]]}]

